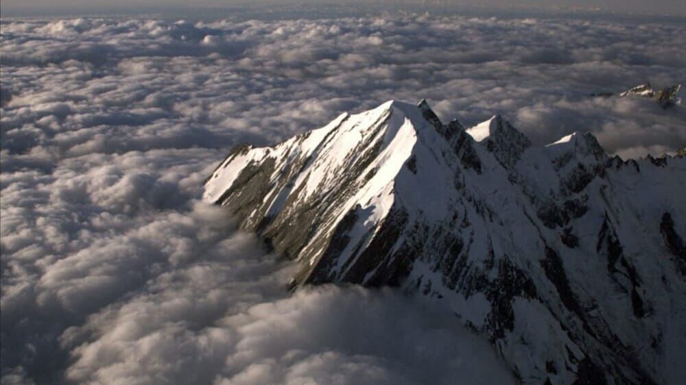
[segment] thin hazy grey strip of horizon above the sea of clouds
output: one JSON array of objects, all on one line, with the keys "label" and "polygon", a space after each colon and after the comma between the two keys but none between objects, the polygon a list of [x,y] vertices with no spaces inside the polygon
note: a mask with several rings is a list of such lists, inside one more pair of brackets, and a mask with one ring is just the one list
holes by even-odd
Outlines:
[{"label": "thin hazy grey strip of horizon above the sea of clouds", "polygon": [[[360,6],[361,4],[364,4]],[[481,13],[514,13],[514,14],[619,14],[634,16],[686,16],[686,2],[680,0],[657,0],[646,3],[645,1],[619,1],[619,0],[486,0],[486,1],[445,1],[445,0],[376,0],[376,1],[330,1],[330,0],[305,0],[305,1],[218,1],[200,0],[193,2],[192,6],[185,1],[178,0],[122,0],[113,3],[106,0],[83,1],[83,0],[5,0],[2,2],[1,15],[3,17],[15,16],[78,16],[82,14],[188,14],[198,16],[209,12],[214,17],[222,17],[215,12],[230,12],[235,8],[288,8],[297,6],[300,12],[308,12],[310,7],[327,7],[338,10],[355,10],[356,12],[373,12],[383,10],[407,11],[440,11],[440,12],[481,12]],[[303,8],[306,7],[306,8]]]}]

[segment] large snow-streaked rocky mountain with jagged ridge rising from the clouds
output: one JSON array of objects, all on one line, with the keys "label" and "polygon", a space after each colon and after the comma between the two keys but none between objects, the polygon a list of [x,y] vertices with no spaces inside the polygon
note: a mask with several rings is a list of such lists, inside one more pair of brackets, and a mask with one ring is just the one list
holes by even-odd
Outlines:
[{"label": "large snow-streaked rocky mountain with jagged ridge rising from the clouds", "polygon": [[499,116],[445,125],[425,101],[239,147],[204,199],[298,261],[294,285],[392,285],[489,338],[524,384],[686,375],[686,158],[545,147]]}]

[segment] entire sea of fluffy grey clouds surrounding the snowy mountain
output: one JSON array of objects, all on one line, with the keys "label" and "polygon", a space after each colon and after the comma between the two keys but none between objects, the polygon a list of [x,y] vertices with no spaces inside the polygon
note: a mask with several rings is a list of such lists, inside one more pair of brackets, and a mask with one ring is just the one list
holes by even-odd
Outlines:
[{"label": "entire sea of fluffy grey clouds surrounding the snowy mountain", "polygon": [[[484,341],[427,303],[323,287],[200,203],[233,145],[387,99],[534,142],[595,132],[643,156],[683,106],[592,98],[686,79],[679,25],[378,16],[214,23],[3,20],[3,383],[504,383]],[[495,363],[484,373],[480,362]]]}]

